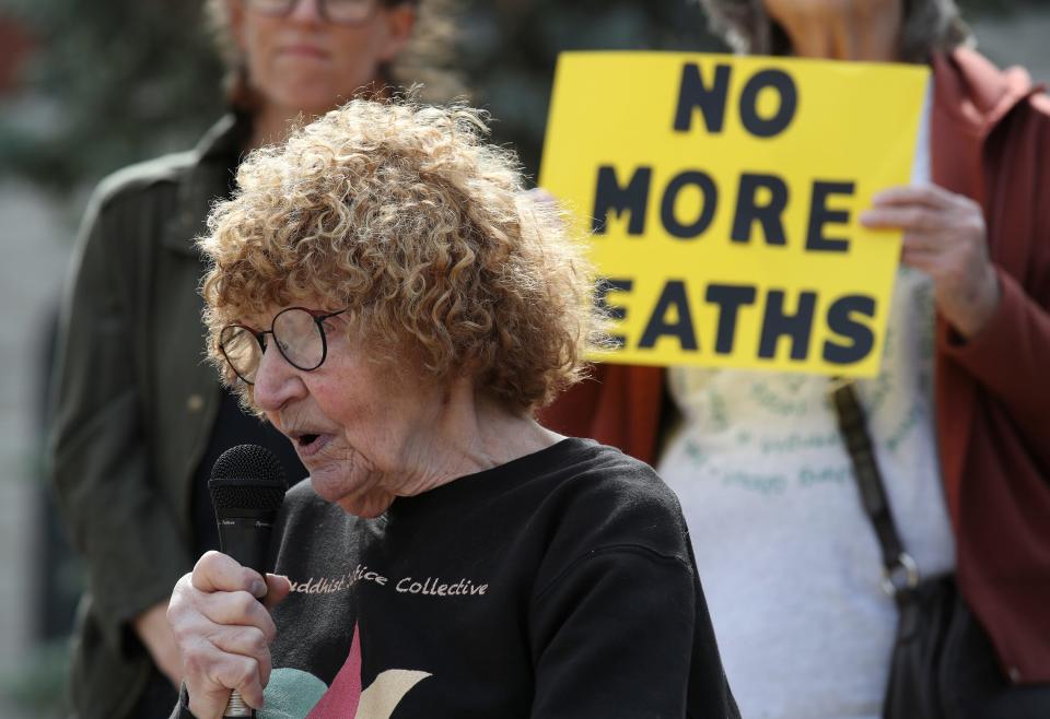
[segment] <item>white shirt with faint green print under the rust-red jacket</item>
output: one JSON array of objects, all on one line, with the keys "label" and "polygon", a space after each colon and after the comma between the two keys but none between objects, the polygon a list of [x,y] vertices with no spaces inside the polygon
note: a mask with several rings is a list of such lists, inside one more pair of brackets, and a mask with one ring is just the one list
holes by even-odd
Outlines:
[{"label": "white shirt with faint green print under the rust-red jacket", "polygon": [[[929,99],[913,181],[929,181]],[[932,283],[901,268],[882,370],[859,393],[903,542],[924,574],[955,546],[934,435]],[[658,463],[681,500],[719,648],[749,719],[877,719],[897,624],[828,379],[679,367],[685,416]]]}]

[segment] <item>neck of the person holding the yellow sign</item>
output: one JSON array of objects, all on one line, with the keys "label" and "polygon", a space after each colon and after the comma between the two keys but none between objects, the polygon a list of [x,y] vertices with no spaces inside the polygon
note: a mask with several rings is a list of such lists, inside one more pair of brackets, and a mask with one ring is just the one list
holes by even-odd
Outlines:
[{"label": "neck of the person holding the yellow sign", "polygon": [[788,33],[796,57],[871,62],[898,59],[900,2],[860,3],[865,5],[861,8],[832,4],[835,10],[803,8],[790,17],[774,17]]}]

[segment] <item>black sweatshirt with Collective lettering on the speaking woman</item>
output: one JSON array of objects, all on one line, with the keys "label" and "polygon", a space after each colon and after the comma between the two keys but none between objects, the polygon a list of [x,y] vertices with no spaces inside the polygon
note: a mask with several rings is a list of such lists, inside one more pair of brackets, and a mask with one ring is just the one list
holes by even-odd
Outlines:
[{"label": "black sweatshirt with Collective lettering on the speaking woman", "polygon": [[618,450],[565,439],[375,519],[304,481],[277,532],[259,719],[738,717],[678,502]]}]

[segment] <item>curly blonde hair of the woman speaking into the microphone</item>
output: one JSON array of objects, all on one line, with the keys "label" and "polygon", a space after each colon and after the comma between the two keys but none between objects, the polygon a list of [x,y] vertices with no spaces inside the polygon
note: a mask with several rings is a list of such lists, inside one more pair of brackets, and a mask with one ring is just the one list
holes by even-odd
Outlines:
[{"label": "curly blonde hair of the woman speaking into the microphone", "polygon": [[581,377],[602,326],[584,245],[487,132],[465,106],[355,99],[241,164],[198,244],[209,356],[249,406],[219,333],[292,304],[348,307],[377,361],[420,357],[513,408]]}]

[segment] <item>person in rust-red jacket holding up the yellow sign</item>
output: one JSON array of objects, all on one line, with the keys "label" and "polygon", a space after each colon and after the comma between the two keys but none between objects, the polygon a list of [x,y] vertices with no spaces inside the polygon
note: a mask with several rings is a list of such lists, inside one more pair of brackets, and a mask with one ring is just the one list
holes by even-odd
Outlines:
[{"label": "person in rust-red jacket holding up the yellow sign", "polygon": [[[903,250],[880,375],[858,391],[921,576],[956,573],[1002,692],[1050,683],[1050,98],[970,49],[950,0],[703,4],[742,52],[932,68],[913,184],[861,217],[902,229]],[[829,379],[608,365],[598,380],[546,420],[678,493],[743,715],[878,716],[898,612]],[[1046,688],[970,708],[1050,716]]]}]

